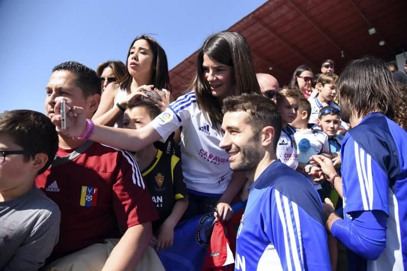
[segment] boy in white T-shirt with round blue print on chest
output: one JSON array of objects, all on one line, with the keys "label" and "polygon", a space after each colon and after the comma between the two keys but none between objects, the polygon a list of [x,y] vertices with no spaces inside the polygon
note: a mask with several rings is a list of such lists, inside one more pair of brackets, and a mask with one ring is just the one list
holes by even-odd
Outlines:
[{"label": "boy in white T-shirt with round blue print on chest", "polygon": [[328,144],[328,136],[323,131],[313,128],[313,124],[308,123],[311,115],[311,105],[307,98],[300,97],[299,109],[297,118],[291,123],[296,128],[294,134],[295,141],[297,142],[298,153],[298,167],[297,171],[305,175],[311,183],[315,186],[321,199],[324,199],[322,186],[316,183],[314,177],[309,176],[314,166],[310,165],[310,157],[315,154],[330,155]]}]

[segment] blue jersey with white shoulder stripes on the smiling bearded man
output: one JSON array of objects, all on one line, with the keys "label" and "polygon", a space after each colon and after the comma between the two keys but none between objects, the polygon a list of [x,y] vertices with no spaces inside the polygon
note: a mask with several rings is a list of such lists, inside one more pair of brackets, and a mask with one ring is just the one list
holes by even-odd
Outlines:
[{"label": "blue jersey with white shoulder stripes on the smiling bearded man", "polygon": [[235,270],[331,270],[319,196],[276,160],[249,187]]}]

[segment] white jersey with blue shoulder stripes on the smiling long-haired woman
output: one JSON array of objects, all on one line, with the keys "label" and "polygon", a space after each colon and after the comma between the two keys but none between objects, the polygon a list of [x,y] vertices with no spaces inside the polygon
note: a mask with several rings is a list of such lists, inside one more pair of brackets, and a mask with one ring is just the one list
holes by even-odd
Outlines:
[{"label": "white jersey with blue shoulder stripes on the smiling long-haired woman", "polygon": [[180,96],[151,125],[164,140],[183,126],[180,147],[187,188],[202,193],[223,194],[232,174],[229,156],[219,148],[223,134],[198,108],[195,92]]}]

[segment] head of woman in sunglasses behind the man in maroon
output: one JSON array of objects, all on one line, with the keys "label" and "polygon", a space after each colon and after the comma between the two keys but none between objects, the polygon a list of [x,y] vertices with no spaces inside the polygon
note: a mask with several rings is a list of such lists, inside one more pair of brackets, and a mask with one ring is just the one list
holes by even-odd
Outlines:
[{"label": "head of woman in sunglasses behind the man in maroon", "polygon": [[111,83],[119,84],[126,73],[126,65],[120,60],[108,60],[100,63],[96,73],[102,83],[102,93],[107,85]]}]

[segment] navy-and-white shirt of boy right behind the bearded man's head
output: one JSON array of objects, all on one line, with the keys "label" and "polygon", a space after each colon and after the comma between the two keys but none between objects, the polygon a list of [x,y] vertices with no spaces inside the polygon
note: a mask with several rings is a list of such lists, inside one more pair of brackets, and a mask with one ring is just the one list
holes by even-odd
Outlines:
[{"label": "navy-and-white shirt of boy right behind the bearded man's head", "polygon": [[281,136],[277,143],[277,159],[293,170],[297,170],[298,157],[297,157],[297,145],[294,138],[296,130],[289,124],[285,128],[281,129]]}]

